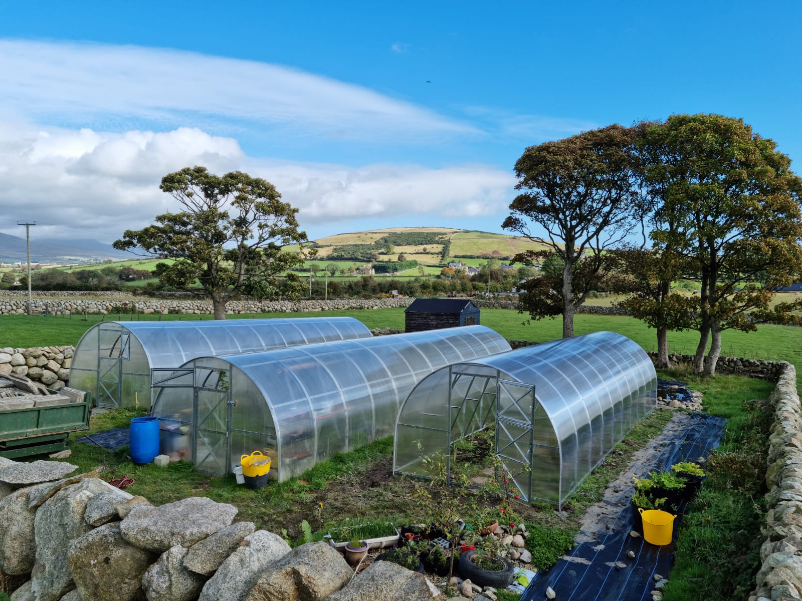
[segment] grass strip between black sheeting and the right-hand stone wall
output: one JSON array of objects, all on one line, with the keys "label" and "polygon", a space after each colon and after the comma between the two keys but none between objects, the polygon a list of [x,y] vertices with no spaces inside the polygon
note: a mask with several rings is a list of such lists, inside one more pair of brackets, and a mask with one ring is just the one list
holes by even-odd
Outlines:
[{"label": "grass strip between black sheeting and the right-hand stone wall", "polygon": [[774,410],[764,399],[774,385],[747,378],[679,377],[704,391],[705,410],[727,417],[727,430],[719,449],[708,456],[709,477],[683,517],[663,599],[747,599],[755,587],[764,540],[760,525]]}]

